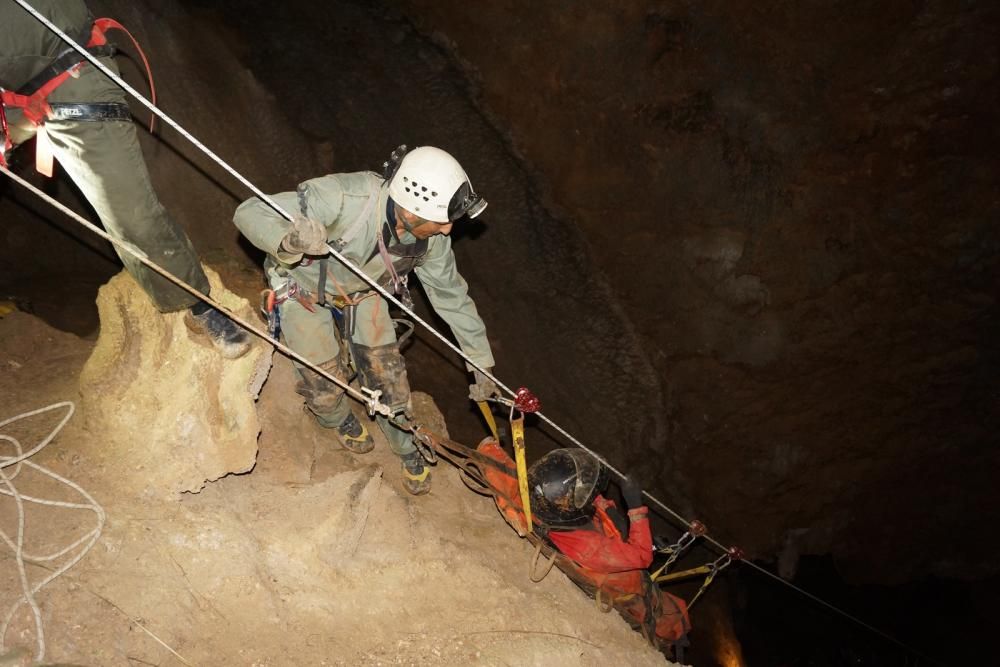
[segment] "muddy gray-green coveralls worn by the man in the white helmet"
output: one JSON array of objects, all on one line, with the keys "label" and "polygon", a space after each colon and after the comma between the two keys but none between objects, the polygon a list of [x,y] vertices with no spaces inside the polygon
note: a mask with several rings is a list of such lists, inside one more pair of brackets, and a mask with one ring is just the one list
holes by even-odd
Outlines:
[{"label": "muddy gray-green coveralls worn by the man in the white helmet", "polygon": [[[493,366],[486,326],[455,267],[451,238],[438,234],[418,242],[404,233],[397,239],[395,220],[389,214],[392,204],[380,176],[373,172],[331,174],[306,181],[298,192],[275,195],[274,200],[288,212],[302,212],[304,204],[305,214],[326,227],[329,243],[334,247],[342,243],[341,254],[380,285],[388,286],[391,274],[378,250],[378,234],[383,234],[396,273],[405,276],[412,270],[434,310],[451,327],[462,351],[483,368]],[[267,253],[264,269],[272,289],[283,293],[289,281],[294,281],[316,300],[318,258],[303,258],[280,249],[291,223],[257,198],[240,205],[234,222],[251,243]],[[381,389],[383,402],[394,408],[406,406],[409,384],[386,300],[338,260],[330,258],[327,268],[326,300],[347,296],[356,304],[348,318],[353,325],[347,333],[365,386]],[[392,292],[391,287],[388,290]],[[315,312],[310,312],[296,299],[280,303],[285,342],[323,370],[347,378],[337,323],[327,308],[313,307]],[[295,368],[299,374],[298,391],[320,423],[329,427],[342,424],[350,412],[343,389],[300,364]],[[414,451],[409,433],[392,427],[384,417],[377,421],[395,454],[403,457]]]}]

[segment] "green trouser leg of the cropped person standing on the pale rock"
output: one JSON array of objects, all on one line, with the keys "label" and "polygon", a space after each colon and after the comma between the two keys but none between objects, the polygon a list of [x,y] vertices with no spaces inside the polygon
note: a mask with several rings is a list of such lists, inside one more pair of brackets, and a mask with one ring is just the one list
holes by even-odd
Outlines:
[{"label": "green trouser leg of the cropped person standing on the pale rock", "polygon": [[[150,261],[208,294],[208,278],[190,239],[153,190],[135,126],[123,121],[49,121],[45,129],[56,159],[97,211],[108,234],[131,243]],[[161,312],[198,301],[128,251],[117,246],[115,251]]]}]

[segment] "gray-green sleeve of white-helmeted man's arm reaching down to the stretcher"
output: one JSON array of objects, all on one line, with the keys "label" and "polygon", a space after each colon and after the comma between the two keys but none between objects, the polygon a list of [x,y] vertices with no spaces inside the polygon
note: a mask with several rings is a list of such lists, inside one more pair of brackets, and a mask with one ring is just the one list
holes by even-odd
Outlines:
[{"label": "gray-green sleeve of white-helmeted man's arm reaching down to the stretcher", "polygon": [[436,236],[432,241],[423,263],[414,272],[435,312],[451,327],[462,351],[483,368],[492,368],[495,362],[486,337],[486,324],[469,296],[468,283],[458,273],[451,239]]}]

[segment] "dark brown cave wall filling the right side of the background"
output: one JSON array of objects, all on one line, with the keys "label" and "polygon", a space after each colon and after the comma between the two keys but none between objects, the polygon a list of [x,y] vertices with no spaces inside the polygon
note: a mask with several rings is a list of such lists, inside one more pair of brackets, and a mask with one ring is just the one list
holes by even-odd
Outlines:
[{"label": "dark brown cave wall filling the right side of the background", "polygon": [[789,573],[995,567],[996,5],[395,4],[655,366],[669,435],[613,456]]}]

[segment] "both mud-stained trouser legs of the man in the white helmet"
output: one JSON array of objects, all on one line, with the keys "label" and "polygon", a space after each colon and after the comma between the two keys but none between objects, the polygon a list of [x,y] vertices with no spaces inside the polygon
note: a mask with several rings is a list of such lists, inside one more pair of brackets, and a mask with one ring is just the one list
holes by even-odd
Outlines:
[{"label": "both mud-stained trouser legs of the man in the white helmet", "polygon": [[[272,284],[272,288],[277,287]],[[314,308],[315,312],[310,312],[294,299],[279,306],[285,343],[331,375],[347,381],[351,378],[351,371],[341,349],[339,325],[329,309]],[[409,383],[385,300],[378,294],[362,299],[355,306],[353,320],[350,343],[362,383],[371,389],[381,389],[382,401],[387,405],[406,405]],[[298,362],[293,365],[299,376],[296,390],[305,397],[306,406],[316,415],[319,423],[328,428],[342,424],[351,411],[344,390]],[[393,426],[382,415],[377,415],[375,421],[394,454],[402,457],[416,450],[409,431]]]}]

